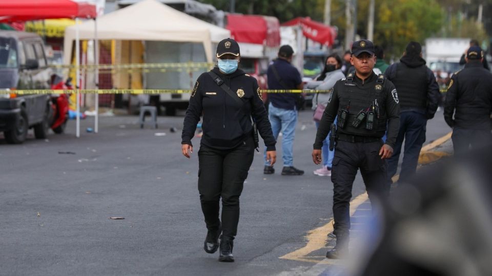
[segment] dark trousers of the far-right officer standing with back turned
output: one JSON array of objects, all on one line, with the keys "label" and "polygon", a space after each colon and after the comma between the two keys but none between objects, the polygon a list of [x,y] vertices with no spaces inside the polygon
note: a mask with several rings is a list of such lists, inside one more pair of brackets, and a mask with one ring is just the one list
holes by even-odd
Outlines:
[{"label": "dark trousers of the far-right officer standing with back turned", "polygon": [[492,143],[492,134],[487,129],[468,129],[454,127],[451,135],[455,156],[463,156],[469,148],[479,149]]}]

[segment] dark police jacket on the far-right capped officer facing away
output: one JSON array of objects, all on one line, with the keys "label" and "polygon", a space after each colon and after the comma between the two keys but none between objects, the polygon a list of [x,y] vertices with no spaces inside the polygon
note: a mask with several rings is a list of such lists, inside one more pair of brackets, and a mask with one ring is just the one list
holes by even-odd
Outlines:
[{"label": "dark police jacket on the far-right capped officer facing away", "polygon": [[[450,127],[490,129],[492,73],[471,61],[453,74],[446,93],[444,120]],[[453,118],[454,115],[454,118]]]}]

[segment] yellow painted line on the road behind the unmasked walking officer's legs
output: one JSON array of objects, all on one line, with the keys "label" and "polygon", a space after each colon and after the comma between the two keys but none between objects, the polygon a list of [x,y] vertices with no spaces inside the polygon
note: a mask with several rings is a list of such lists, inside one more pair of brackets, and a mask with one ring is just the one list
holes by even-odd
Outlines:
[{"label": "yellow painted line on the road behind the unmasked walking officer's legs", "polygon": [[[447,140],[450,139],[452,132],[447,133],[446,135],[440,137],[439,139],[435,140],[434,142],[425,145],[425,147],[422,147],[422,150],[420,154],[422,155],[423,153],[428,152],[429,150],[434,149],[435,147],[443,144]],[[443,155],[442,155],[443,156]],[[440,156],[440,157],[442,157]],[[440,158],[439,157],[439,158]],[[399,178],[399,175],[395,175],[392,180],[395,182]],[[368,196],[367,192],[357,196],[354,200],[350,202],[350,216],[352,217],[357,210],[357,207],[367,201]],[[299,262],[309,262],[309,263],[317,263],[317,264],[332,264],[332,260],[328,261],[329,259],[324,259],[322,261],[318,260],[312,260],[310,259],[308,255],[316,250],[319,250],[321,248],[324,248],[326,245],[326,242],[330,237],[326,235],[326,233],[332,233],[333,232],[333,223],[334,220],[331,219],[330,222],[326,223],[323,226],[320,226],[318,228],[312,229],[308,232],[308,235],[305,237],[308,242],[306,245],[302,248],[299,248],[295,251],[292,251],[288,254],[285,254],[282,257],[279,257],[279,259],[285,259],[285,260],[292,260],[292,261],[299,261]]]}]

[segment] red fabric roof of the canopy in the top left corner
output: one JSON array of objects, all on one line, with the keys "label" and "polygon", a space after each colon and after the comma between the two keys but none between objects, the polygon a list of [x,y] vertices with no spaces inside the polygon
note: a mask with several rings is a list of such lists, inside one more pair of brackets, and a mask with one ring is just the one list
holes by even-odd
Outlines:
[{"label": "red fabric roof of the canopy in the top left corner", "polygon": [[96,7],[71,0],[2,0],[0,22],[49,18],[95,18]]}]

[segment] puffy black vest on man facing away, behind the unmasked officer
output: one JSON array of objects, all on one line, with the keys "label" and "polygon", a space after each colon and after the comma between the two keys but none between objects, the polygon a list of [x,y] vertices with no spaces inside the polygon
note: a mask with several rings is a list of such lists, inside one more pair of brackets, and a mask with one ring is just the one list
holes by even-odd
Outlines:
[{"label": "puffy black vest on man facing away, behind the unmasked officer", "polygon": [[400,62],[396,65],[396,77],[391,81],[398,90],[401,110],[427,108],[427,66],[411,68]]}]

